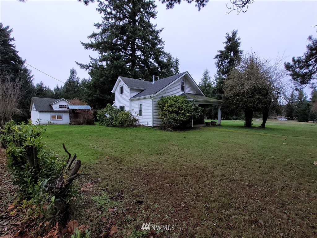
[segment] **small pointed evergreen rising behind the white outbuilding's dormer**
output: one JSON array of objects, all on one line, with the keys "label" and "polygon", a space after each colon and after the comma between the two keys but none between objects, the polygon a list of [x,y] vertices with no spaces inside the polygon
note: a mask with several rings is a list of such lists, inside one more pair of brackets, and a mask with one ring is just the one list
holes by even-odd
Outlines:
[{"label": "small pointed evergreen rising behind the white outbuilding's dormer", "polygon": [[77,71],[74,68],[70,69],[68,80],[61,91],[61,98],[73,99],[81,94],[80,78],[77,76]]}]

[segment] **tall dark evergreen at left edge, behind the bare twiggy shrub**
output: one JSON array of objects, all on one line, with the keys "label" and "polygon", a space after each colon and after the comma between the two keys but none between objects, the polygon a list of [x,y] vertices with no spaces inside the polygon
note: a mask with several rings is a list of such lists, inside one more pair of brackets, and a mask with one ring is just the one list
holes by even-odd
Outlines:
[{"label": "tall dark evergreen at left edge, behind the bare twiggy shrub", "polygon": [[[1,84],[6,81],[6,78],[11,80],[21,81],[22,99],[19,104],[19,110],[22,111],[20,116],[15,116],[13,119],[16,121],[26,121],[30,118],[29,107],[31,96],[33,96],[34,85],[33,75],[31,71],[25,66],[25,59],[23,60],[16,50],[13,43],[14,37],[11,37],[12,29],[9,26],[3,26],[0,23],[0,75]],[[5,75],[9,77],[4,77]]]}]

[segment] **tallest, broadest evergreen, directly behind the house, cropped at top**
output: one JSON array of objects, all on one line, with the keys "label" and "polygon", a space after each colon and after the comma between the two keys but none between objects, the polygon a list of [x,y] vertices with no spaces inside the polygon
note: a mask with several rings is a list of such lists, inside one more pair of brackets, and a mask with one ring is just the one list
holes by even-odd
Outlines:
[{"label": "tallest, broadest evergreen, directly behind the house, cropped at top", "polygon": [[172,68],[164,51],[164,41],[151,19],[156,18],[154,1],[98,1],[102,14],[99,30],[82,43],[85,49],[95,50],[98,58],[89,64],[78,63],[89,70],[87,102],[95,109],[113,101],[111,90],[118,76],[152,80],[152,75],[164,78]]}]

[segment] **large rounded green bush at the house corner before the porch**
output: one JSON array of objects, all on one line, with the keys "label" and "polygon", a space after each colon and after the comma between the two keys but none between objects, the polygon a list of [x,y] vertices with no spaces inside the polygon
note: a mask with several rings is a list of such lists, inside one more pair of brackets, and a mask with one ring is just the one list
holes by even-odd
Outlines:
[{"label": "large rounded green bush at the house corner before the porch", "polygon": [[182,128],[202,114],[202,108],[189,102],[185,96],[161,97],[157,103],[159,119],[162,119],[161,129],[165,130]]}]

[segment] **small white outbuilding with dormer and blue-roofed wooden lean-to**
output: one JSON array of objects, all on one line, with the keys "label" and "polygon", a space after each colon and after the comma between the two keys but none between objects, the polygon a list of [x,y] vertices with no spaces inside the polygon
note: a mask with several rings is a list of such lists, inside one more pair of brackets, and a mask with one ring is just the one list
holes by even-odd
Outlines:
[{"label": "small white outbuilding with dormer and blue-roofed wooden lean-to", "polygon": [[[32,97],[30,113],[32,124],[79,124],[78,110],[91,110],[87,105],[74,105],[78,100]],[[71,117],[69,115],[72,115]]]}]

